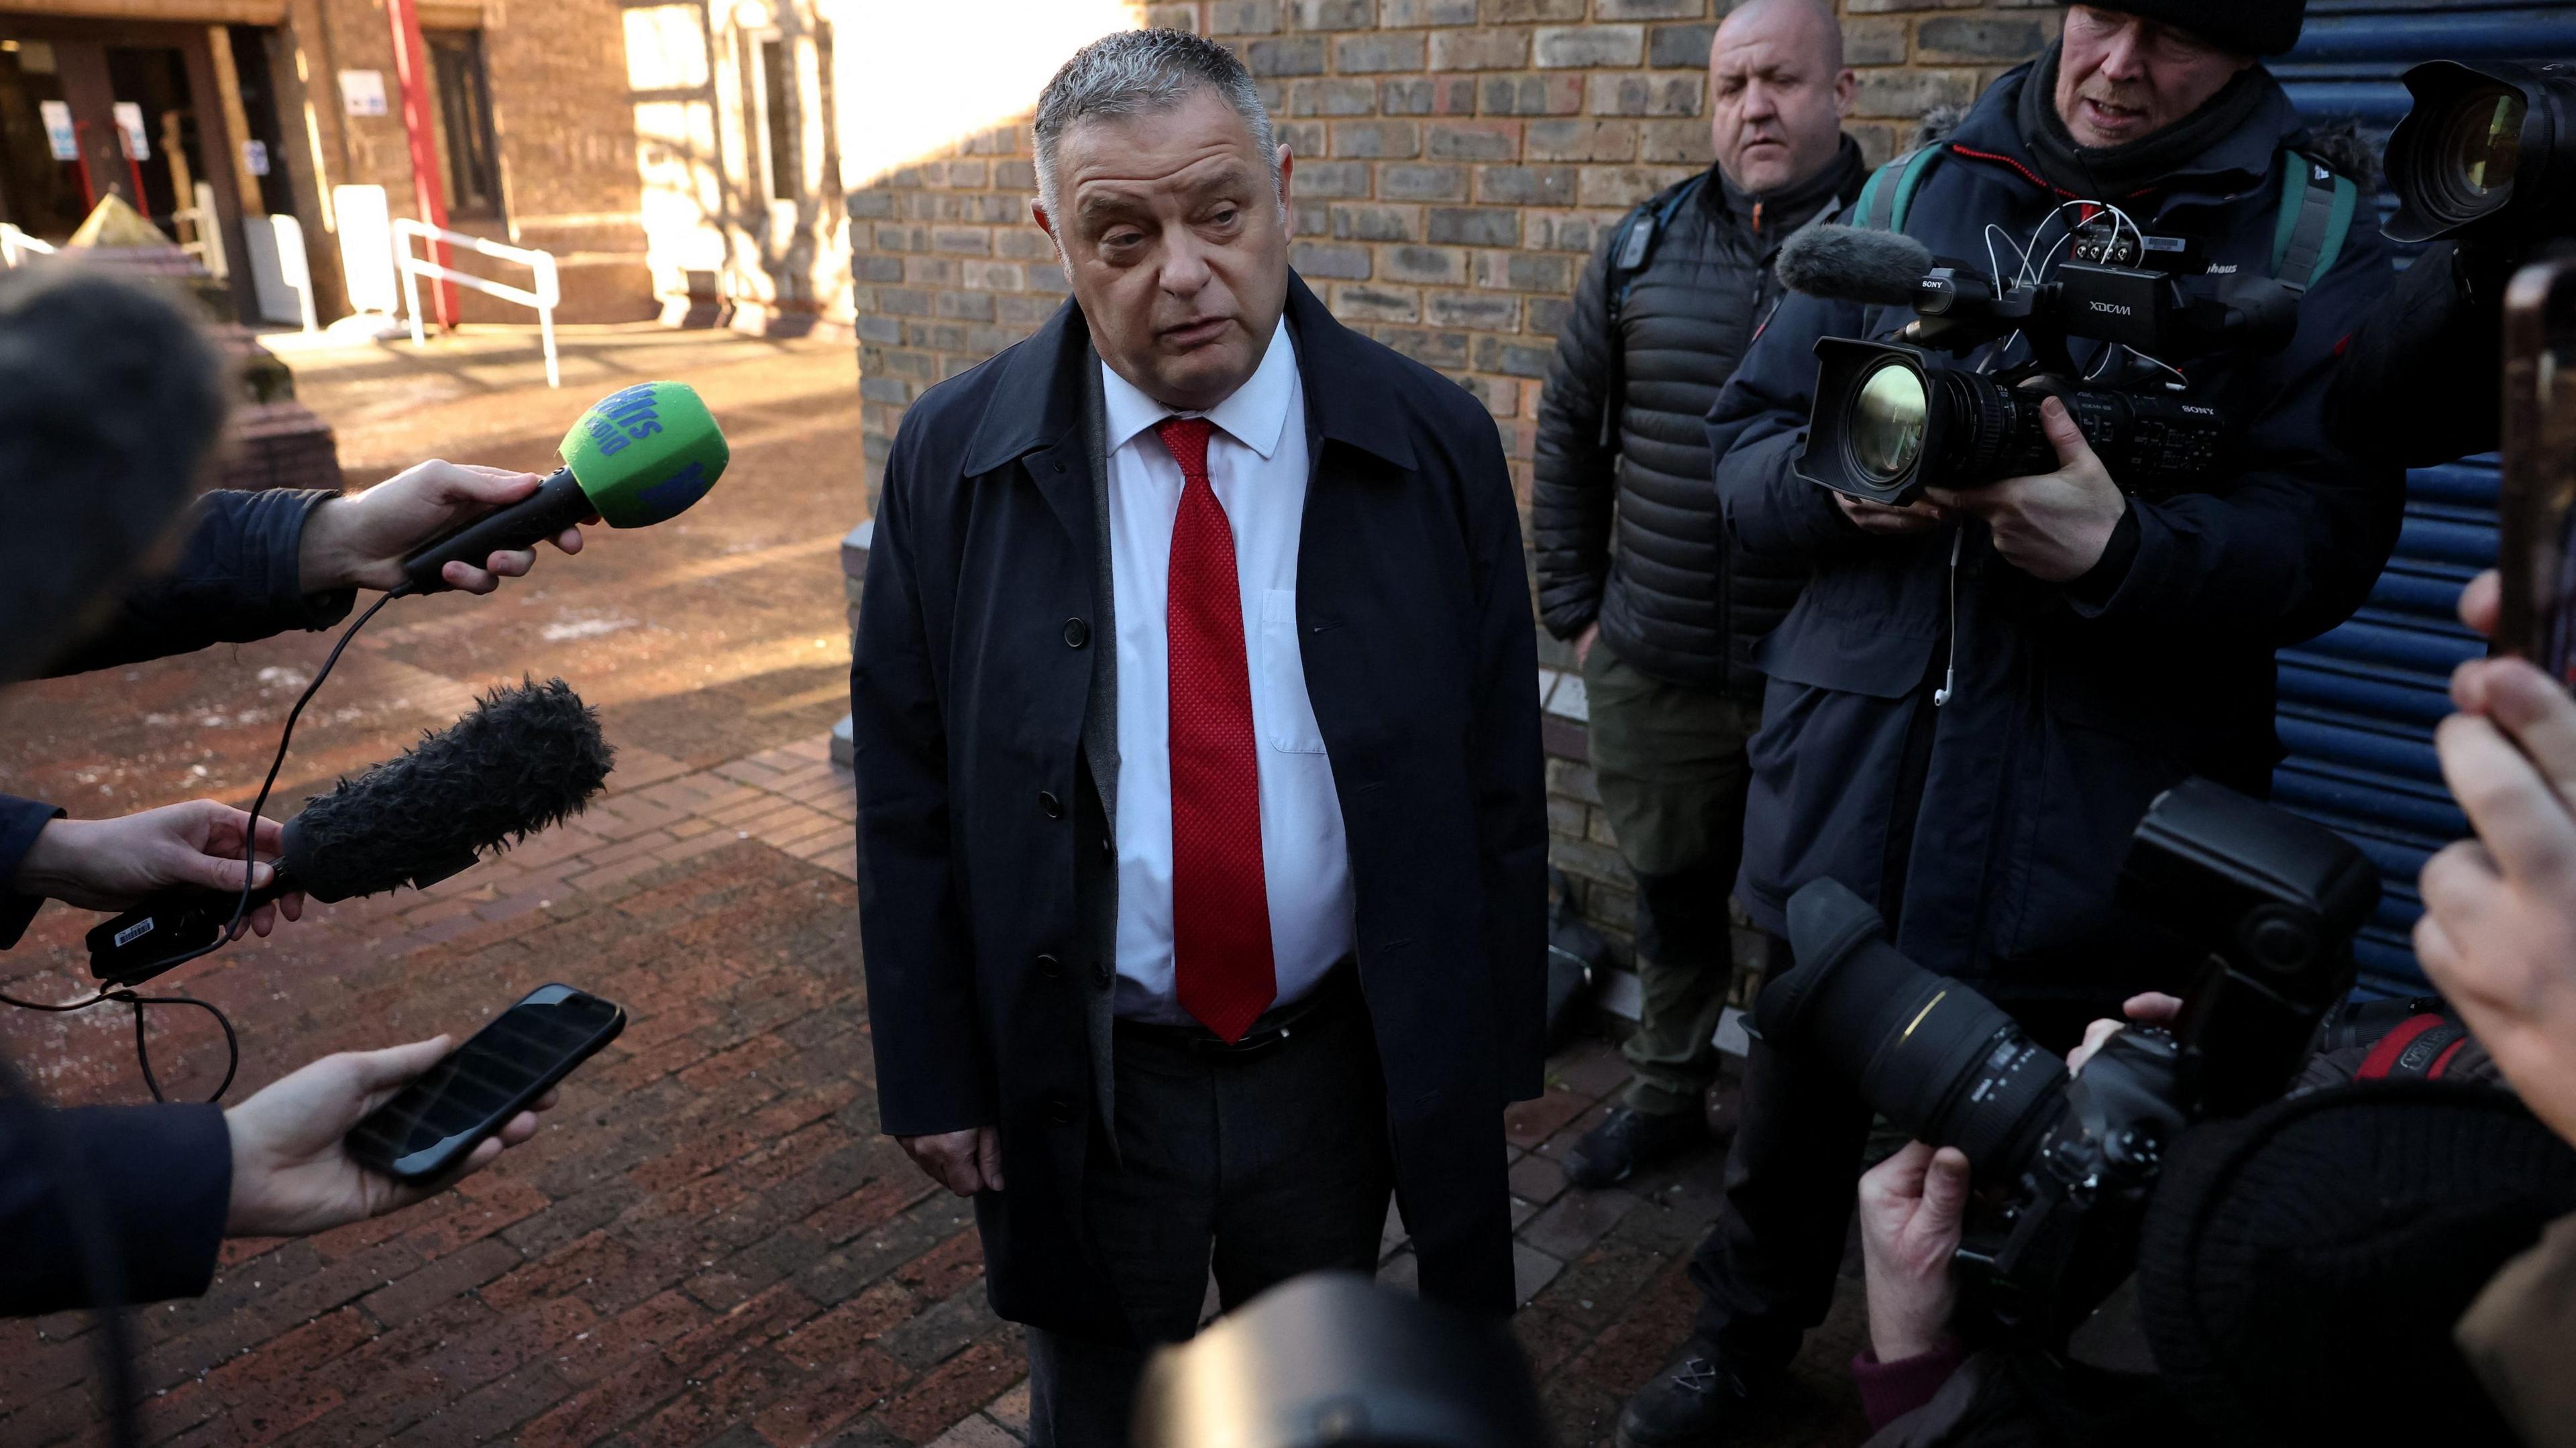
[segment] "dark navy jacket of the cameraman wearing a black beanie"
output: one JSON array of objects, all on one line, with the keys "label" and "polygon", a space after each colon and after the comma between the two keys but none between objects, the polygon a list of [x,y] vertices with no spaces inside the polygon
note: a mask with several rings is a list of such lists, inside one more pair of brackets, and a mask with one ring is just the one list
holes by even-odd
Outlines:
[{"label": "dark navy jacket of the cameraman wearing a black beanie", "polygon": [[[1989,88],[1924,175],[1906,229],[1935,255],[1984,258],[1989,222],[2022,242],[2061,201],[2014,124],[2027,75]],[[2300,137],[2280,85],[2251,80],[2249,124],[2117,198],[2151,232],[2202,237],[2223,276],[2269,276],[2280,167]],[[2213,492],[2130,500],[2105,562],[2074,585],[2014,569],[1973,520],[1868,536],[1798,479],[1816,338],[1888,338],[1911,312],[1780,307],[1708,415],[1736,541],[1814,567],[1754,654],[1770,685],[1739,894],[1762,928],[1780,933],[1788,894],[1832,876],[1935,971],[2112,984],[2102,971],[2136,935],[2112,886],[2148,801],[2190,773],[2267,794],[2272,652],[2344,621],[2396,546],[2403,474],[2342,456],[2318,423],[2336,350],[2388,281],[2378,232],[2352,227],[2287,350],[2190,363],[2190,397],[2244,425],[2241,466]],[[2079,343],[2079,366],[2089,358]],[[2066,961],[2089,971],[2053,969]]]}]

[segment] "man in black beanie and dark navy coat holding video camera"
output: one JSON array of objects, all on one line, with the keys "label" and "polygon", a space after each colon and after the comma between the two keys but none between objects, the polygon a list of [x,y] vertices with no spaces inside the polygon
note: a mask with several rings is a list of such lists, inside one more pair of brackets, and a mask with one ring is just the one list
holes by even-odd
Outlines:
[{"label": "man in black beanie and dark navy coat holding video camera", "polygon": [[[2306,186],[2290,167],[2313,162],[2254,57],[2290,49],[2298,23],[2300,0],[2074,5],[2058,46],[1947,137],[1906,232],[1950,258],[1984,258],[1989,224],[2014,247],[2038,234],[2038,265],[2058,240],[2045,216],[2110,198],[2148,232],[2197,237],[2213,276],[2272,276],[2285,178]],[[1814,567],[1757,652],[1770,685],[1736,884],[1757,925],[1780,933],[1790,891],[1837,879],[1906,956],[1978,982],[2058,1049],[2087,1015],[2174,987],[2179,961],[2136,958],[2138,928],[2112,904],[2128,835],[2192,773],[2267,791],[2272,652],[2347,618],[2388,562],[2403,479],[2318,423],[2388,278],[2357,224],[2282,350],[2187,361],[2184,397],[2241,425],[2241,451],[2164,497],[2128,495],[2056,399],[2050,474],[1909,508],[1816,487],[1790,469],[1816,340],[1888,338],[1911,312],[1780,307],[1708,420],[1736,541]],[[2076,343],[2079,368],[2097,358]],[[1739,1399],[1777,1378],[1824,1317],[1868,1121],[1847,1082],[1754,1049],[1726,1201],[1692,1262],[1703,1309],[1631,1402],[1625,1443],[1718,1443]]]}]

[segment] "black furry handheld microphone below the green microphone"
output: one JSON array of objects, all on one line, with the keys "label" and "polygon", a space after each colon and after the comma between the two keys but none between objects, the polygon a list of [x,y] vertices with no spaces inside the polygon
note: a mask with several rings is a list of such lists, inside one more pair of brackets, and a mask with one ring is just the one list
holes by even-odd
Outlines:
[{"label": "black furry handheld microphone below the green microphone", "polygon": [[564,680],[495,688],[402,757],[309,799],[283,827],[276,879],[250,904],[237,889],[175,886],[90,930],[90,974],[152,979],[211,946],[234,910],[286,891],[330,904],[438,884],[484,850],[580,814],[611,765],[598,714]]}]

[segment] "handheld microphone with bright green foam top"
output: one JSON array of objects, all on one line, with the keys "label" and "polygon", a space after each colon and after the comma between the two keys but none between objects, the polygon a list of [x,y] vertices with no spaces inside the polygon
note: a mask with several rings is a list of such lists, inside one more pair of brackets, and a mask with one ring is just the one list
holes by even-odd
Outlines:
[{"label": "handheld microphone with bright green foam top", "polygon": [[590,518],[611,528],[647,528],[706,497],[732,456],[724,430],[685,381],[639,381],[590,405],[564,446],[564,466],[536,492],[471,518],[402,559],[397,593],[448,587],[451,562],[482,567],[502,549],[531,549]]}]

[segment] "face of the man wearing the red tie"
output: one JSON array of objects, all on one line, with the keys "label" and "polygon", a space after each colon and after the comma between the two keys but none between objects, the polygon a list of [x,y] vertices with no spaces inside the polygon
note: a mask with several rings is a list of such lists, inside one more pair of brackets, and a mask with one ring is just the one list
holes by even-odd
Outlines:
[{"label": "face of the man wearing the red tie", "polygon": [[1288,165],[1280,147],[1273,191],[1252,126],[1213,90],[1056,139],[1061,214],[1033,211],[1100,361],[1154,402],[1216,407],[1260,366],[1288,301]]}]

